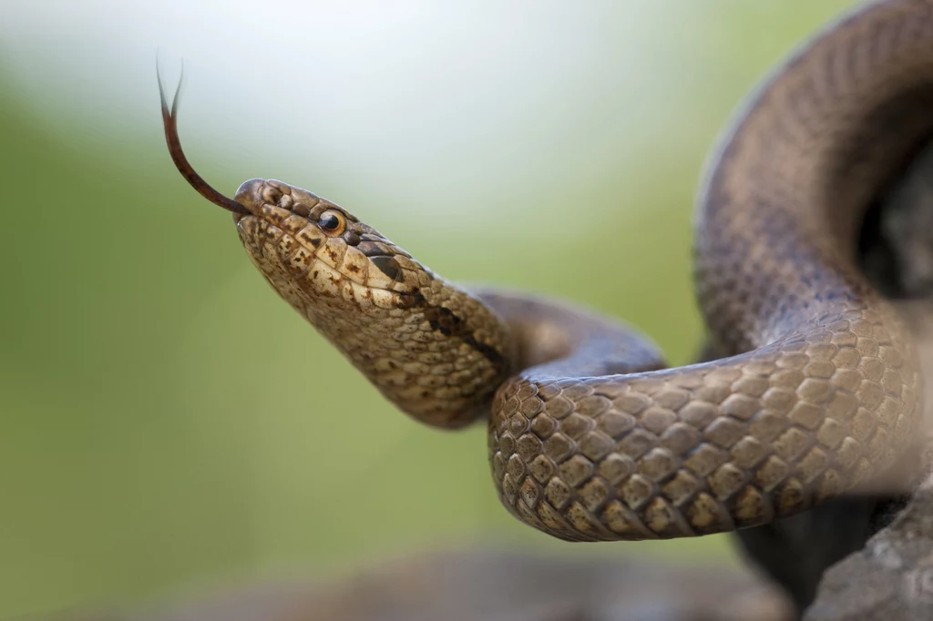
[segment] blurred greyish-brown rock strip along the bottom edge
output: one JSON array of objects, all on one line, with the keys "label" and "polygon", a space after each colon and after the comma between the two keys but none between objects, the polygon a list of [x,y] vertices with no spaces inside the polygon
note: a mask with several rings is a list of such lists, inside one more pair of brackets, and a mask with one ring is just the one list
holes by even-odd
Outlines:
[{"label": "blurred greyish-brown rock strip along the bottom edge", "polygon": [[277,584],[148,614],[46,621],[790,621],[750,573],[643,559],[442,552],[334,583]]}]

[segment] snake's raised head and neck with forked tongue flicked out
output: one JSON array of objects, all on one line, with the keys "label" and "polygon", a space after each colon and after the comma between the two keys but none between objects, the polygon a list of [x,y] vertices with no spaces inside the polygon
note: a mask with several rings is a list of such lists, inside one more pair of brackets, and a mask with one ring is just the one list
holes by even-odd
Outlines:
[{"label": "snake's raised head and neck with forked tongue flicked out", "polygon": [[246,254],[280,297],[411,416],[451,428],[489,411],[512,348],[494,311],[308,190],[250,179],[224,196],[182,151],[177,93],[169,107],[161,80],[159,90],[175,166],[233,214]]}]

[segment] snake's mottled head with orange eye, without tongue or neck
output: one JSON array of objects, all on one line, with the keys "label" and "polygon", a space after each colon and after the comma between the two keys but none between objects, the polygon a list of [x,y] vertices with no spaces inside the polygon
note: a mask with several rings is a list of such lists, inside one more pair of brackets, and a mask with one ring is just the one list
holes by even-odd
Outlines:
[{"label": "snake's mottled head with orange eye, without tongue or neck", "polygon": [[[250,179],[234,214],[250,259],[282,293],[313,297],[302,303],[328,311],[403,308],[430,281],[411,255],[340,206],[274,179]],[[289,300],[293,301],[293,300]]]}]

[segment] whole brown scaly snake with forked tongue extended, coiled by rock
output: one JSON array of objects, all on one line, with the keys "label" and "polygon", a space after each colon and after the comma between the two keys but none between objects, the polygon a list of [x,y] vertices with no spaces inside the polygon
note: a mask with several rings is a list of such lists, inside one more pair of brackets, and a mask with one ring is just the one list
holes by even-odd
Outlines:
[{"label": "whole brown scaly snake with forked tongue extended, coiled by rock", "polygon": [[221,194],[188,163],[177,91],[169,108],[159,86],[175,166],[232,213],[272,289],[413,419],[486,421],[498,497],[539,531],[757,526],[870,488],[918,435],[911,331],[859,268],[857,240],[933,134],[930,0],[852,9],[734,113],[693,220],[716,356],[687,366],[579,305],[449,282],[299,186],[250,179]]}]

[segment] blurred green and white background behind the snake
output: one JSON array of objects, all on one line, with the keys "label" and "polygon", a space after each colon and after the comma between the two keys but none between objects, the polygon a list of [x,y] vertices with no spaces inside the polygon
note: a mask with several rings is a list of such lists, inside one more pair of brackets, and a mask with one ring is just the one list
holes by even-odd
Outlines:
[{"label": "blurred green and white background behind the snake", "polygon": [[[152,4],[152,3],[150,3]],[[454,280],[577,300],[688,362],[690,219],[743,97],[844,0],[13,0],[0,23],[0,616],[335,575],[489,540],[483,430],[394,411],[175,172],[336,200]]]}]

